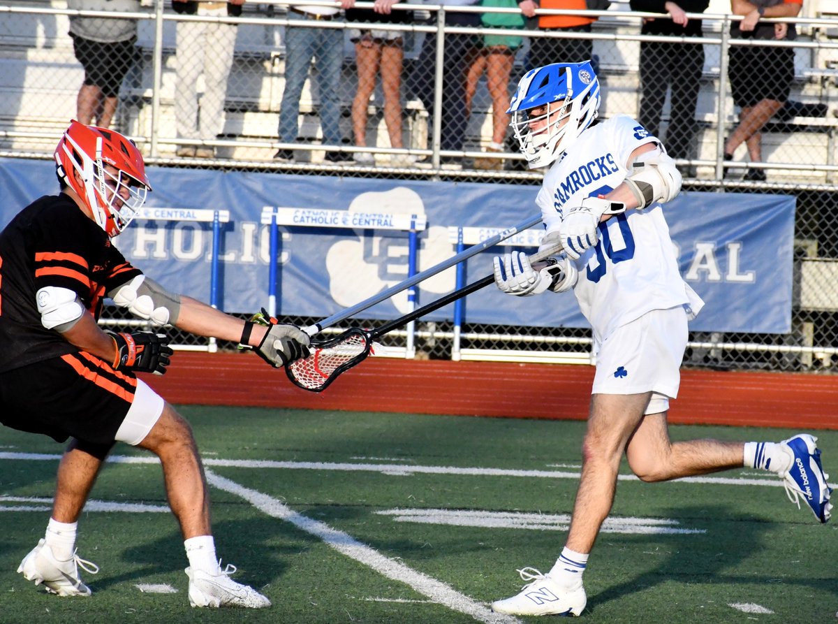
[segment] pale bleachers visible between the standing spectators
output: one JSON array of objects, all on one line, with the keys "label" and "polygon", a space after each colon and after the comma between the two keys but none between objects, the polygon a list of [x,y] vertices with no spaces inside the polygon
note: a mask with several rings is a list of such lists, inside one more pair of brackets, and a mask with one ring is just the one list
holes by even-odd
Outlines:
[{"label": "pale bleachers visible between the standing spectators", "polygon": [[[7,0],[12,8],[65,8],[64,0]],[[727,12],[727,3],[714,0],[708,14]],[[271,13],[282,18],[282,9],[270,5],[246,3],[246,18],[267,17]],[[627,11],[628,3],[615,3],[613,11]],[[168,10],[168,9],[167,9]],[[804,8],[810,17],[838,18],[838,0],[818,0]],[[0,145],[3,149],[23,151],[47,150],[54,138],[32,138],[28,134],[49,133],[52,137],[65,127],[75,115],[75,96],[83,72],[73,55],[67,35],[65,15],[44,13],[4,13],[0,25]],[[836,20],[838,24],[838,20]],[[160,103],[157,135],[160,139],[158,155],[173,156],[176,132],[174,128],[174,64],[176,49],[174,23],[166,20],[163,28],[163,72],[158,92]],[[720,24],[705,20],[706,36],[718,36]],[[838,25],[812,27],[801,30],[799,42],[831,41],[838,36]],[[631,40],[639,33],[639,18],[625,16],[601,18],[594,25],[594,34],[608,39],[595,39],[594,54],[598,58],[603,81],[603,115],[618,112],[636,115],[639,103],[639,42]],[[612,35],[616,34],[617,37]],[[418,54],[422,35],[407,37],[406,70]],[[139,23],[137,64],[127,76],[121,92],[121,107],[117,112],[118,127],[133,136],[147,137],[152,127],[153,96],[153,41],[154,23],[151,19]],[[701,79],[701,92],[696,118],[700,125],[697,158],[711,161],[716,158],[718,133],[718,100],[720,59],[718,48],[707,44],[706,66]],[[517,56],[518,68],[525,49]],[[344,73],[340,93],[344,117],[344,137],[351,137],[349,107],[354,95],[354,47],[344,37]],[[228,83],[224,138],[239,140],[242,147],[223,148],[220,158],[270,161],[273,151],[267,143],[277,140],[278,112],[284,86],[283,28],[278,23],[243,23],[238,29],[234,68]],[[793,117],[774,120],[763,134],[763,159],[786,164],[835,164],[836,73],[838,49],[798,48],[796,79],[791,99],[804,103],[823,103],[829,107],[825,117]],[[484,78],[485,80],[485,78]],[[513,81],[515,80],[515,73]],[[727,91],[727,88],[726,88]],[[729,96],[728,96],[729,100]],[[370,102],[370,144],[388,147],[389,140],[380,114],[382,97],[376,92]],[[666,105],[668,107],[668,104]],[[723,122],[731,127],[735,122],[732,102],[727,101]],[[427,148],[427,112],[418,101],[406,101],[405,145]],[[317,145],[318,94],[307,81],[301,100],[301,140]],[[668,113],[664,112],[664,133]],[[16,136],[13,136],[16,135]],[[478,88],[469,122],[467,150],[481,150],[491,140],[491,102],[484,86]],[[254,145],[262,147],[254,147]],[[302,153],[307,153],[303,151]],[[313,159],[318,159],[313,153]],[[745,159],[740,148],[737,159]],[[793,178],[798,181],[830,181],[831,174],[814,169],[782,171],[773,169],[771,179]],[[714,169],[700,167],[702,178],[711,178]]]}]

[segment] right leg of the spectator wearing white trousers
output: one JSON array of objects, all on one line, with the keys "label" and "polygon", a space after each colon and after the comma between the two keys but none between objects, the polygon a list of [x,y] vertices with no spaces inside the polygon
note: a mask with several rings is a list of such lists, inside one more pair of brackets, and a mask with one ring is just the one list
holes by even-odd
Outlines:
[{"label": "right leg of the spectator wearing white trousers", "polygon": [[200,138],[216,138],[224,129],[224,102],[227,78],[233,66],[236,27],[229,23],[210,23],[201,42],[204,48],[204,96],[201,98]]}]

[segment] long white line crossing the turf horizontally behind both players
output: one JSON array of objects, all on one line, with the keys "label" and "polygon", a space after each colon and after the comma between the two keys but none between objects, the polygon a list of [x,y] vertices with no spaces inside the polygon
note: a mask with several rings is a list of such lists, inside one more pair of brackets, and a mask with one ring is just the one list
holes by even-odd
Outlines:
[{"label": "long white line crossing the turf horizontally behind both players", "polygon": [[[59,460],[61,455],[45,455],[36,453],[0,452],[0,460]],[[275,460],[217,460],[204,457],[204,465],[229,468],[257,468],[260,470],[308,470],[308,471],[344,471],[344,472],[378,472],[390,476],[411,476],[413,474],[426,475],[464,475],[464,476],[520,476],[537,479],[578,479],[578,472],[515,470],[508,468],[463,468],[444,465],[401,465],[401,464],[361,464],[328,461],[275,461]],[[158,459],[153,456],[129,457],[127,455],[112,455],[108,458],[115,464],[157,464]],[[769,476],[770,477],[770,476]],[[620,475],[620,481],[639,481],[634,475]],[[782,487],[783,481],[778,477],[753,478],[732,476],[687,476],[678,480],[679,483],[707,483],[722,486],[768,486]],[[832,487],[838,487],[830,483]]]}]

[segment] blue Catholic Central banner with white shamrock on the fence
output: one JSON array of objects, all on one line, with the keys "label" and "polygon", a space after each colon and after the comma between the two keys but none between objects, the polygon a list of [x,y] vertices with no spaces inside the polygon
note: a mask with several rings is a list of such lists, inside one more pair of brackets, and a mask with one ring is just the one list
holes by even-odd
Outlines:
[{"label": "blue Catholic Central banner with white shamrock on the fence", "polygon": [[[266,207],[427,219],[419,235],[417,272],[453,256],[449,226],[505,228],[539,214],[537,186],[164,168],[150,168],[149,177],[154,187],[147,201],[151,208],[229,211],[230,221],[220,225],[218,240],[218,304],[234,312],[266,305],[270,226],[261,222]],[[40,195],[57,190],[53,164],[0,159],[0,226]],[[681,273],[706,302],[692,330],[789,332],[794,206],[795,198],[788,195],[695,192],[683,192],[665,205]],[[331,226],[338,221],[348,226]],[[406,232],[352,226],[358,222],[348,218],[280,226],[279,315],[324,318],[407,277]],[[115,242],[131,263],[168,289],[209,301],[211,223],[137,220]],[[468,282],[491,273],[492,256],[504,251],[494,247],[469,259]],[[437,299],[455,286],[455,269],[447,269],[420,284],[418,303]],[[409,309],[402,293],[362,316],[392,319]],[[429,318],[451,319],[452,313],[453,306],[448,306]],[[572,294],[519,299],[492,287],[468,296],[465,318],[470,323],[587,327]]]}]

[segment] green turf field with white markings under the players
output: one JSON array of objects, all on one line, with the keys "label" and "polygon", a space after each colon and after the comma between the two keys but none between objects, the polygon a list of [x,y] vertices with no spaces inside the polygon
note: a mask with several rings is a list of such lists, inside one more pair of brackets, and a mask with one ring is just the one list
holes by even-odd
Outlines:
[{"label": "green turf field with white markings under the players", "polygon": [[[218,554],[273,606],[189,607],[183,543],[159,465],[125,445],[80,520],[79,554],[101,567],[83,575],[93,596],[62,599],[23,580],[15,570],[43,536],[62,447],[0,429],[0,622],[551,620],[496,616],[488,603],[520,589],[516,568],[546,572],[561,552],[584,424],[194,406],[182,413],[212,484]],[[671,428],[673,439],[792,433]],[[825,469],[838,475],[838,432],[818,435]],[[838,621],[838,525],[794,507],[776,477],[742,469],[648,485],[623,474],[586,572],[582,621]]]}]

